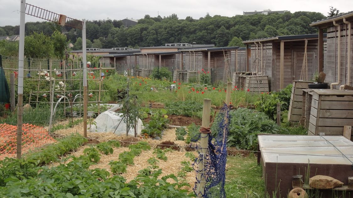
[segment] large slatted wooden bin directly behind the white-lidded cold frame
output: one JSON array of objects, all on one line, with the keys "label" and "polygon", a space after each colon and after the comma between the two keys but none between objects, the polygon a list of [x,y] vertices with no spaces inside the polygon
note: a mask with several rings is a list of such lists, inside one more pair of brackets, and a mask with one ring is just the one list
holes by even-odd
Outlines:
[{"label": "large slatted wooden bin directly behind the white-lidded cold frame", "polygon": [[312,94],[308,135],[343,135],[345,125],[353,126],[353,91],[313,89]]}]

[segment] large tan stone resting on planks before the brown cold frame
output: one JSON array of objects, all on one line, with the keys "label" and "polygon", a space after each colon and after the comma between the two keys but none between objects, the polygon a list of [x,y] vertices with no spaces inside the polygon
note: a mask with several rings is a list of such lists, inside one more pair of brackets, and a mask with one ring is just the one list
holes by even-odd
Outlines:
[{"label": "large tan stone resting on planks before the brown cold frame", "polygon": [[330,189],[343,186],[343,182],[330,176],[316,175],[309,179],[309,186],[318,189]]}]

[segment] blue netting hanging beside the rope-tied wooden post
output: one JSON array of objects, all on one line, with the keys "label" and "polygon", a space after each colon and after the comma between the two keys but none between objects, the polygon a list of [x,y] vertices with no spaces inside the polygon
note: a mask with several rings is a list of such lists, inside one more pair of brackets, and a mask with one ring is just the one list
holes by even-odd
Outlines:
[{"label": "blue netting hanging beside the rope-tied wooden post", "polygon": [[[226,117],[229,117],[229,107],[225,104],[218,116],[215,118],[213,126],[211,127],[211,133],[205,138],[208,138],[208,152],[201,153],[199,140],[201,135],[197,135],[192,138],[192,141],[198,141],[196,148],[199,152],[199,156],[193,163],[193,168],[196,171],[196,182],[193,191],[197,197],[205,198],[225,198],[226,193],[224,190],[224,184],[226,179],[226,163],[227,163],[227,137],[229,132],[229,124],[226,124]],[[228,122],[229,123],[229,122]],[[204,169],[198,170],[199,165],[203,164]],[[199,181],[197,175],[205,177],[205,191],[204,194],[200,191],[200,184],[203,181]]]}]

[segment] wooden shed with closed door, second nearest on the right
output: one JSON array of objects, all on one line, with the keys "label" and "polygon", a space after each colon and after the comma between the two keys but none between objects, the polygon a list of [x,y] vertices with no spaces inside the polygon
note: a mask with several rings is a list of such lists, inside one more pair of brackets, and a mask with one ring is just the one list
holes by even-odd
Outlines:
[{"label": "wooden shed with closed door, second nearest on the right", "polygon": [[318,70],[318,34],[276,36],[243,43],[247,49],[246,71],[268,76],[271,91],[278,91],[293,80],[311,80]]}]

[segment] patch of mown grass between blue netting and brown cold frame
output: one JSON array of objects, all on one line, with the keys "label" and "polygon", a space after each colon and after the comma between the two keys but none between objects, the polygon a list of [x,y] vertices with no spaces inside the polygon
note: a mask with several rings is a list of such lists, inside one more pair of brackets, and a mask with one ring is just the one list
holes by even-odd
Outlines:
[{"label": "patch of mown grass between blue netting and brown cold frame", "polygon": [[227,197],[264,197],[265,183],[257,157],[228,157],[225,191]]}]

